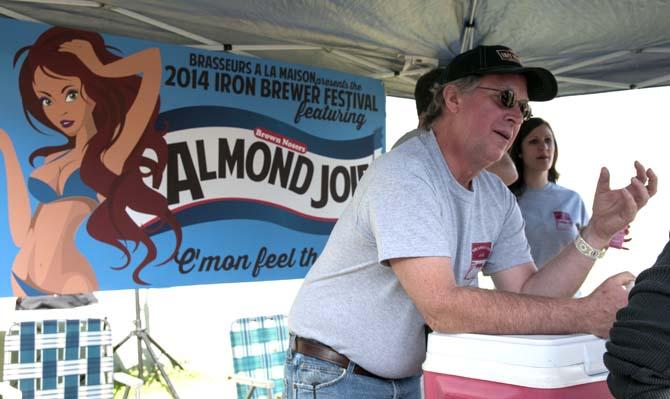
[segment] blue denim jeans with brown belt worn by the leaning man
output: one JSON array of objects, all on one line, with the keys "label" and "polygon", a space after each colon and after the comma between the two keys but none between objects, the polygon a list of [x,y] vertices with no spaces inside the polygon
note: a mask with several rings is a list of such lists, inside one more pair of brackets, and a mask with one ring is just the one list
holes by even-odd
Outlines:
[{"label": "blue denim jeans with brown belt worn by the leaning man", "polygon": [[284,366],[285,399],[421,399],[416,375],[382,380],[354,374],[355,363],[343,369],[302,353],[288,350]]}]

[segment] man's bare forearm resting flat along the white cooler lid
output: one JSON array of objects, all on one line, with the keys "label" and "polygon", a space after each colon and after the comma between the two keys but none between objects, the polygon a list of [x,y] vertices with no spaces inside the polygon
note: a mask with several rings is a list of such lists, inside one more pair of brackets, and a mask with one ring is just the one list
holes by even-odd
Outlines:
[{"label": "man's bare forearm resting flat along the white cooler lid", "polygon": [[456,287],[426,318],[435,331],[479,334],[589,333],[585,300]]}]

